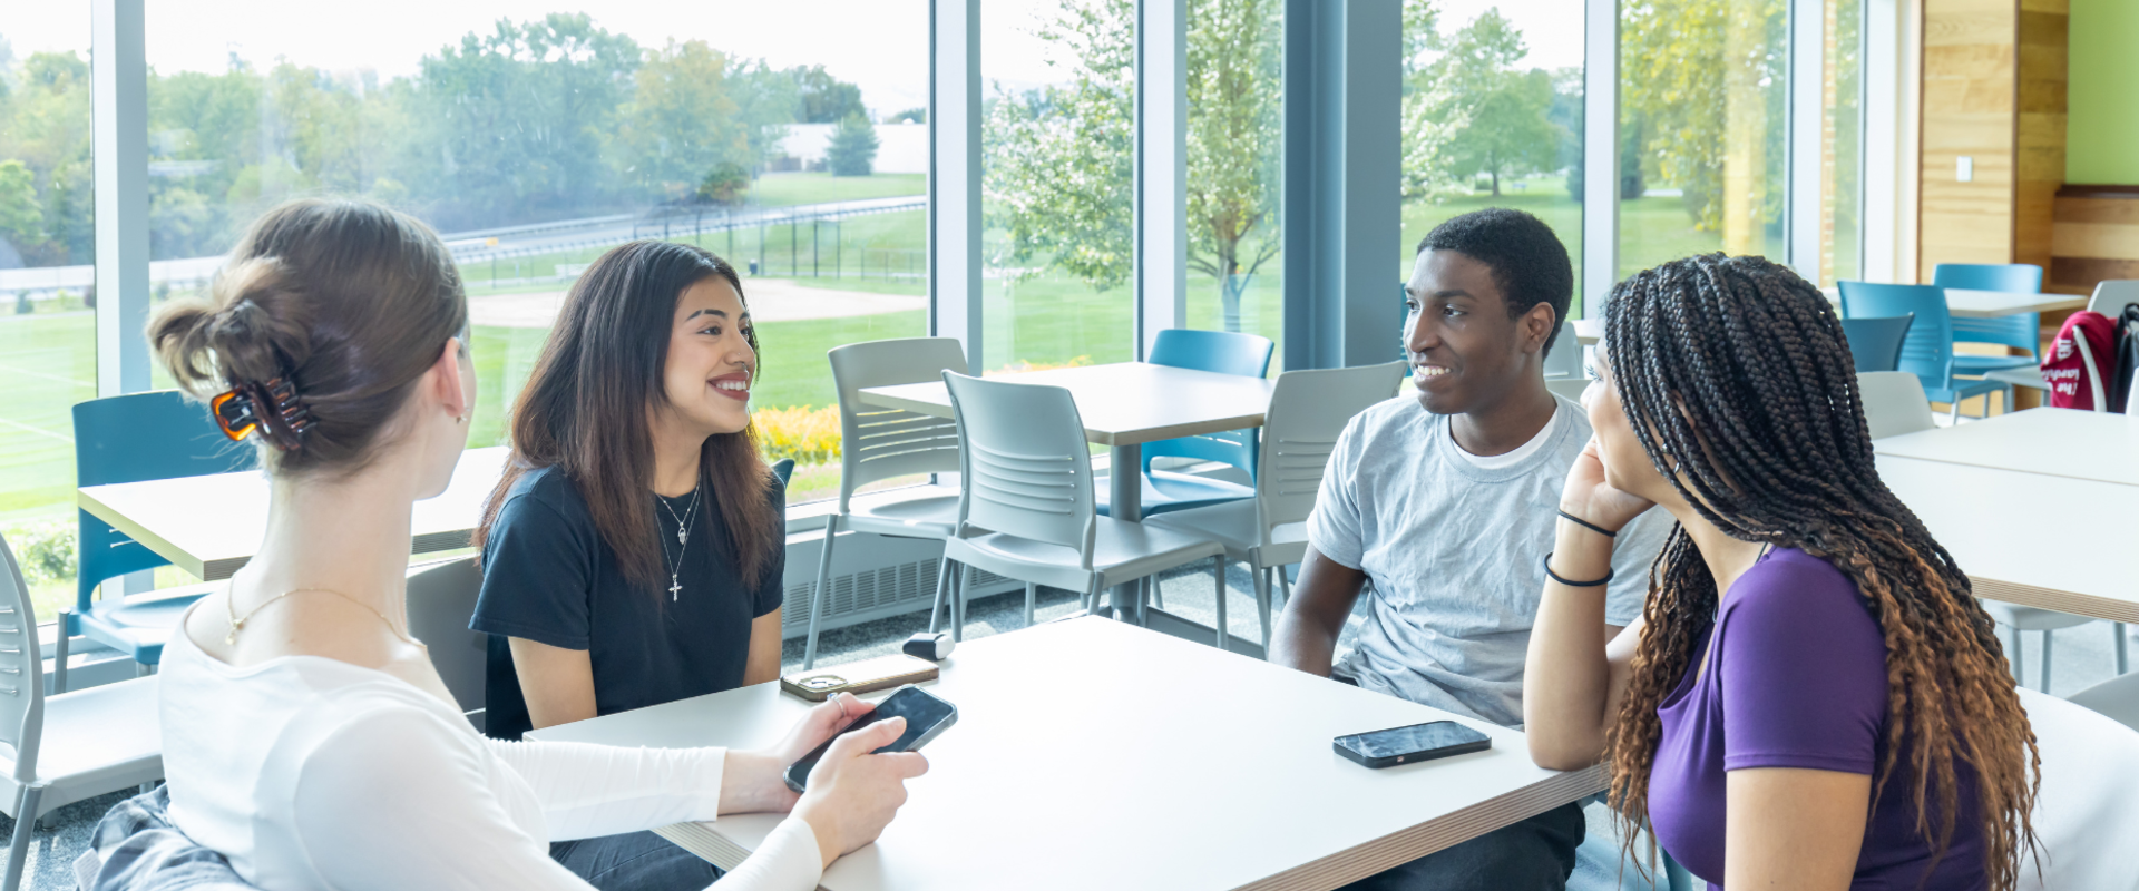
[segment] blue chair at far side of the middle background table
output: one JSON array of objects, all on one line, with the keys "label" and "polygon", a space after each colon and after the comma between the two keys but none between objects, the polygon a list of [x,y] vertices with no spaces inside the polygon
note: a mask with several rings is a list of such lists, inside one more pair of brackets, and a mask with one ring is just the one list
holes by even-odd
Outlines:
[{"label": "blue chair at far side of the middle background table", "polygon": [[[1232,331],[1166,329],[1151,344],[1153,365],[1194,368],[1200,372],[1241,374],[1260,378],[1271,370],[1271,353],[1277,344],[1271,338]],[[1151,470],[1153,457],[1194,457],[1200,462],[1224,462],[1247,470],[1256,479],[1256,453],[1262,440],[1253,429],[1228,429],[1224,434],[1181,436],[1174,440],[1144,442],[1142,513],[1187,511],[1196,506],[1224,504],[1238,498],[1256,498],[1251,485],[1221,479]],[[1099,491],[1099,515],[1108,513],[1110,491]]]}]

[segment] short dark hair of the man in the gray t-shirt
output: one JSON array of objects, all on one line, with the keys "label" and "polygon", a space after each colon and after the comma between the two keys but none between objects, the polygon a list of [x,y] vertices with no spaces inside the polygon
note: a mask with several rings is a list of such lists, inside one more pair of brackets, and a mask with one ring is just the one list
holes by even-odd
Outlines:
[{"label": "short dark hair of the man in the gray t-shirt", "polygon": [[1418,250],[1455,250],[1487,269],[1508,301],[1508,318],[1523,318],[1538,303],[1551,303],[1553,331],[1544,335],[1544,355],[1559,340],[1559,323],[1568,321],[1574,301],[1574,265],[1568,246],[1559,244],[1544,220],[1510,207],[1487,207],[1452,216],[1418,239]]}]

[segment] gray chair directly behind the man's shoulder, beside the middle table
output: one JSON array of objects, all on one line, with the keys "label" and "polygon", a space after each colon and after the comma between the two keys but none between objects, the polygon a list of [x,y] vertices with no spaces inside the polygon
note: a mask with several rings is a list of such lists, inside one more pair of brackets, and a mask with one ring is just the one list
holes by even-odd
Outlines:
[{"label": "gray chair directly behind the man's shoulder, beside the middle table", "polygon": [[[1557,353],[1557,346],[1555,346]],[[1307,515],[1322,491],[1337,434],[1354,415],[1403,380],[1405,363],[1286,372],[1277,376],[1271,410],[1262,417],[1262,457],[1256,498],[1151,517],[1144,526],[1215,538],[1226,545],[1226,562],[1245,562],[1256,575],[1256,611],[1262,618],[1262,647],[1271,647],[1271,573],[1307,556]],[[1224,575],[1224,568],[1219,570]],[[1219,592],[1224,592],[1219,581]],[[1217,605],[1226,626],[1226,598]],[[1224,643],[1221,643],[1224,645]]]}]

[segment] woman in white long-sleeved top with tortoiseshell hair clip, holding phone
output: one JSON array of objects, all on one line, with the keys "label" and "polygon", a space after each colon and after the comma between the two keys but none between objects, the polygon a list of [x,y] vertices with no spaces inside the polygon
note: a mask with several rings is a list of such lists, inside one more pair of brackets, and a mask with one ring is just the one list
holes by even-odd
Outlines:
[{"label": "woman in white long-sleeved top with tortoiseshell hair clip, holding phone", "polygon": [[920,754],[843,735],[800,799],[781,780],[866,705],[813,709],[768,750],[646,750],[479,735],[409,637],[411,506],[468,438],[468,301],[424,224],[351,201],[267,212],[205,301],[148,338],[272,481],[267,534],[171,635],[171,820],[265,891],[588,889],[552,840],[783,812],[721,889],[813,889],[877,838]]}]

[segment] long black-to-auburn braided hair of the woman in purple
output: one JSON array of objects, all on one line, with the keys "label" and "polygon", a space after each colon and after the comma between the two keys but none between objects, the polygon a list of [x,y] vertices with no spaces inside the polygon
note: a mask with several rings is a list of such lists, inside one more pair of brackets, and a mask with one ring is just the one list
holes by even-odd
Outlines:
[{"label": "long black-to-auburn braided hair of the woman in purple", "polygon": [[[1705,254],[1619,282],[1604,318],[1619,402],[1679,496],[1733,538],[1825,558],[1865,598],[1887,643],[1874,808],[1902,767],[1932,867],[1957,814],[1972,814],[1989,887],[2013,889],[2019,850],[2034,848],[2034,731],[1968,577],[1878,479],[1855,363],[1827,299],[1760,256]],[[1701,658],[1718,607],[1715,577],[1675,528],[1651,566],[1647,626],[1606,744],[1628,846],[1632,829],[1649,825],[1658,703]],[[1957,761],[1976,773],[1972,806],[1957,801]]]}]

